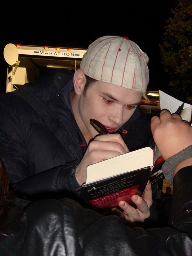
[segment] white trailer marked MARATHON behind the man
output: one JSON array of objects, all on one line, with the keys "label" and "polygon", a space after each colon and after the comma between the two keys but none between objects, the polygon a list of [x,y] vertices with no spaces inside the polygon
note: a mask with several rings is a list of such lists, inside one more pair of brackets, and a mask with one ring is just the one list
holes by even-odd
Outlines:
[{"label": "white trailer marked MARATHON behind the man", "polygon": [[7,68],[6,92],[25,83],[33,83],[38,76],[55,68],[79,68],[86,49],[7,44],[4,58]]}]

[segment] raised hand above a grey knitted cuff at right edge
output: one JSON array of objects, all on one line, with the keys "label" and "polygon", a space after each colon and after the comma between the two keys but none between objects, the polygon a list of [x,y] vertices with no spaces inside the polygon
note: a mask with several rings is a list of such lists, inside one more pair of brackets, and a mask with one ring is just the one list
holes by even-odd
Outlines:
[{"label": "raised hand above a grey knitted cuff at right edge", "polygon": [[192,145],[192,127],[167,110],[151,119],[153,138],[164,160]]}]

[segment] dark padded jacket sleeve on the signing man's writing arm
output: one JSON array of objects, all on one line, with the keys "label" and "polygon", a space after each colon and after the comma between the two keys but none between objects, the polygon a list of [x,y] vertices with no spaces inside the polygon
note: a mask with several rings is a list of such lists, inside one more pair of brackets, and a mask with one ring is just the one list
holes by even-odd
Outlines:
[{"label": "dark padded jacket sleeve on the signing man's writing arm", "polygon": [[[5,95],[6,96],[6,95]],[[6,164],[10,184],[14,185],[19,194],[26,196],[42,195],[47,197],[50,192],[68,192],[76,194],[79,187],[73,169],[78,164],[56,166],[41,173],[32,174],[28,167],[26,140],[21,122],[13,109],[0,101],[0,155]],[[47,194],[46,194],[47,193]]]}]

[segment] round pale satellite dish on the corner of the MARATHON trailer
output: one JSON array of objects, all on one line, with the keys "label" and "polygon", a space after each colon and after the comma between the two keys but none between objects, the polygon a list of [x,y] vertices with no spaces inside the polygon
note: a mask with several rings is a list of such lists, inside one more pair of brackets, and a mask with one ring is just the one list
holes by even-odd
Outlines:
[{"label": "round pale satellite dish on the corner of the MARATHON trailer", "polygon": [[9,65],[14,65],[18,61],[19,53],[14,44],[7,44],[4,48],[4,59]]}]

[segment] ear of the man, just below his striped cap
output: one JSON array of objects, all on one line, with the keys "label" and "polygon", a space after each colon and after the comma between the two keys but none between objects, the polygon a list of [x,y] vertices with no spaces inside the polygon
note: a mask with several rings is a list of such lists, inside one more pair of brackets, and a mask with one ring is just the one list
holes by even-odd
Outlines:
[{"label": "ear of the man, just below his striped cap", "polygon": [[80,95],[83,93],[84,86],[86,84],[86,77],[84,72],[81,69],[77,69],[74,76],[73,76],[73,83],[75,93]]}]

